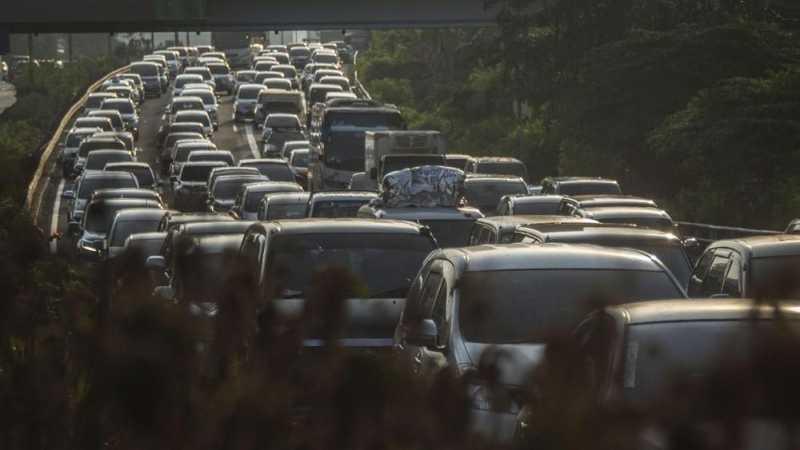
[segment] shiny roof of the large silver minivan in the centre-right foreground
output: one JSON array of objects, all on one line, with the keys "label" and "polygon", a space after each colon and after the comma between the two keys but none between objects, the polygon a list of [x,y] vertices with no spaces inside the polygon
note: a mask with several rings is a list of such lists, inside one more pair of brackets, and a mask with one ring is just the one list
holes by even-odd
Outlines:
[{"label": "shiny roof of the large silver minivan in the centre-right foreground", "polygon": [[466,271],[494,270],[637,270],[665,269],[647,253],[595,245],[499,244],[441,250]]}]

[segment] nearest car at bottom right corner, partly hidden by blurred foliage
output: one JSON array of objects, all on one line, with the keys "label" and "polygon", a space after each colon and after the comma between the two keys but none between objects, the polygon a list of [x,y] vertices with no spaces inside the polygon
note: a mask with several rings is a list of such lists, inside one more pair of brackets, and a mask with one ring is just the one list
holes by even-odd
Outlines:
[{"label": "nearest car at bottom right corner, partly hidden by blurred foliage", "polygon": [[[758,362],[763,358],[758,352],[782,352],[787,338],[797,330],[798,310],[800,305],[794,301],[763,304],[742,299],[676,299],[594,311],[570,337],[574,352],[570,356],[584,368],[570,379],[571,388],[581,392],[587,404],[599,405],[601,410],[654,411],[658,415],[677,405],[691,405],[695,409],[692,420],[677,427],[679,434],[693,436],[696,442],[727,436],[733,426],[741,435],[727,441],[723,438],[723,442],[737,442],[742,449],[781,448],[780,443],[791,440],[792,432],[782,432],[786,430],[784,424],[776,423],[777,416],[764,414],[764,403],[751,400],[751,396],[759,396],[753,391],[776,388],[764,383],[780,377],[783,371],[775,368],[774,377],[768,375],[757,381],[748,377],[727,382],[724,378],[766,368]],[[720,384],[726,392],[742,395],[740,401],[727,403],[730,395],[716,397],[724,395],[717,390],[722,388]],[[541,392],[539,401],[543,404],[562,401],[548,398],[551,390],[546,385],[536,383],[530,389]],[[519,413],[515,447],[530,445],[539,437],[536,411],[537,406],[531,404]],[[665,432],[661,429],[665,422],[656,415],[640,416],[643,423],[632,428],[641,430],[639,442],[628,439],[635,448],[670,447],[667,440],[675,436],[675,425],[667,425],[671,428]]]}]

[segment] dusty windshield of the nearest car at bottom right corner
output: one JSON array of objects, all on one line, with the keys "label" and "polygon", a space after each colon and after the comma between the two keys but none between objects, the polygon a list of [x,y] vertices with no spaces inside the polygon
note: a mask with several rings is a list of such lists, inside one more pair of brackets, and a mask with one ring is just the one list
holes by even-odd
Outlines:
[{"label": "dusty windshield of the nearest car at bottom right corner", "polygon": [[[798,321],[788,324],[794,333],[800,331]],[[771,320],[633,324],[622,353],[622,393],[634,404],[657,401],[669,395],[671,380],[691,379],[693,385],[703,386],[720,367],[748,367],[757,341],[777,326]]]}]

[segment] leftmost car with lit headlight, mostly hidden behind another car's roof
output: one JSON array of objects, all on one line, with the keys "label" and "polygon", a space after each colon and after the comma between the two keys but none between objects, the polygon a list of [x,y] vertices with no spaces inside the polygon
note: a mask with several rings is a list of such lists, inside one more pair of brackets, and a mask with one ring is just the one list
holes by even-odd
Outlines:
[{"label": "leftmost car with lit headlight, mostly hidden behind another car's roof", "polygon": [[106,236],[117,211],[131,208],[162,209],[159,202],[139,198],[92,199],[86,205],[86,213],[77,235],[77,255],[101,260],[106,253]]}]

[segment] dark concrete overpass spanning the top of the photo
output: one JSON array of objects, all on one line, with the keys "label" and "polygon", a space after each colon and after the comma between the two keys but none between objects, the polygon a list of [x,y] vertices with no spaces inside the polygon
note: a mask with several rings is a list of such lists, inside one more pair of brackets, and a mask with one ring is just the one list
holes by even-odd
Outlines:
[{"label": "dark concrete overpass spanning the top of the photo", "polygon": [[288,30],[489,25],[485,0],[26,0],[2,33]]}]

